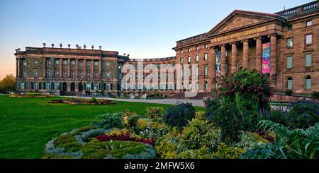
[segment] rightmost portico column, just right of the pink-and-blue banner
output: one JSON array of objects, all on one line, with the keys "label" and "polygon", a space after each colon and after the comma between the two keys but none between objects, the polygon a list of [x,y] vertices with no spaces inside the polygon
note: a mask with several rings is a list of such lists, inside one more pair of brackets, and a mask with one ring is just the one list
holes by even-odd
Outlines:
[{"label": "rightmost portico column, just right of the pink-and-blue banner", "polygon": [[276,90],[276,76],[277,76],[277,37],[270,36],[270,79],[272,86]]}]

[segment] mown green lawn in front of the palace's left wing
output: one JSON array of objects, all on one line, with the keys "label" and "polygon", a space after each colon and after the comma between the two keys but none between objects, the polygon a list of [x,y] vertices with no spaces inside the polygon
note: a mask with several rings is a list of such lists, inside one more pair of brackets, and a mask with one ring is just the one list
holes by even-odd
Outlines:
[{"label": "mown green lawn in front of the palace's left wing", "polygon": [[[0,158],[40,158],[45,143],[61,133],[86,126],[96,115],[124,112],[145,114],[145,107],[158,105],[118,102],[115,105],[49,104],[48,98],[11,98],[0,95]],[[203,110],[203,107],[196,107]]]}]

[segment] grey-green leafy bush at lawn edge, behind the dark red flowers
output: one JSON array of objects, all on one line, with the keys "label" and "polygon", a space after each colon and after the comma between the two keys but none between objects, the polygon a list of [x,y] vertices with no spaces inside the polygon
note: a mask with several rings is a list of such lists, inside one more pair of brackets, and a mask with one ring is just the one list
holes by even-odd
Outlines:
[{"label": "grey-green leafy bush at lawn edge, behind the dark red flowers", "polygon": [[123,113],[106,113],[96,117],[97,121],[93,123],[95,128],[111,129],[111,128],[123,128],[122,124]]}]

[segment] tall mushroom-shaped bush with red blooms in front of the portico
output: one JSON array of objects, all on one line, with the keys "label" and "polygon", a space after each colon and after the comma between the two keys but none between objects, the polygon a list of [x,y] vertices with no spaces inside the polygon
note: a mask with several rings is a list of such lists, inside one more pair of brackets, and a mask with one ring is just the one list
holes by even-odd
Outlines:
[{"label": "tall mushroom-shaped bush with red blooms in front of the portico", "polygon": [[272,90],[267,76],[256,70],[244,69],[223,78],[218,92],[222,100],[227,99],[237,107],[241,129],[251,131],[256,129],[259,112],[270,110]]}]

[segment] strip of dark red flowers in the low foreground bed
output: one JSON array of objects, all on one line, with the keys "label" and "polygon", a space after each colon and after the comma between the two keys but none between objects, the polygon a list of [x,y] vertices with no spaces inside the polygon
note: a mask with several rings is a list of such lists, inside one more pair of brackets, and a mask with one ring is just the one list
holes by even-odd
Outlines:
[{"label": "strip of dark red flowers in the low foreground bed", "polygon": [[130,136],[130,133],[127,131],[121,131],[120,134],[113,133],[113,134],[103,134],[100,136],[96,136],[99,141],[137,141],[141,143],[147,143],[150,145],[155,145],[155,139],[150,138],[137,138],[134,136]]}]

